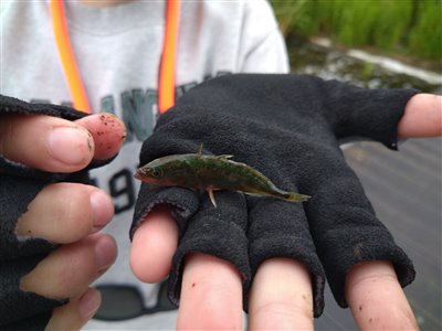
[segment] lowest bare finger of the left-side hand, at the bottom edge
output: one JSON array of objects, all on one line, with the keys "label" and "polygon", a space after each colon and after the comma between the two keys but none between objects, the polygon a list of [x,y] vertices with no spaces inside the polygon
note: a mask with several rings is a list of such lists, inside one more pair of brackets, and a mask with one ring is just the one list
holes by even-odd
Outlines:
[{"label": "lowest bare finger of the left-side hand, at the bottom edge", "polygon": [[98,310],[101,301],[99,291],[87,288],[81,296],[55,308],[45,330],[80,330]]}]

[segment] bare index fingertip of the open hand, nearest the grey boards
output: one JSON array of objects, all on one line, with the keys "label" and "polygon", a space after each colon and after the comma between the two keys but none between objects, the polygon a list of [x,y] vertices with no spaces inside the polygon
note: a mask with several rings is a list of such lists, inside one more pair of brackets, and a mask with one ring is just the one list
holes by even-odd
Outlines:
[{"label": "bare index fingertip of the open hand, nearest the grey boards", "polygon": [[352,267],[346,299],[361,330],[419,330],[414,314],[388,261]]}]

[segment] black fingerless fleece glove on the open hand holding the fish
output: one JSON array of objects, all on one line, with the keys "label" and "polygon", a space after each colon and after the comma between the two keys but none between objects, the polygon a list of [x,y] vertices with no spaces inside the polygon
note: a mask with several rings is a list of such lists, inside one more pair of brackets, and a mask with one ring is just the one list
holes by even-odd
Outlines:
[{"label": "black fingerless fleece glove on the open hand holding the fish", "polygon": [[[260,264],[271,257],[304,263],[311,274],[314,314],[324,307],[325,275],[336,301],[347,307],[347,271],[365,260],[390,260],[399,282],[414,278],[412,263],[377,220],[346,164],[341,139],[364,138],[397,149],[397,125],[410,89],[362,89],[296,75],[228,75],[206,82],[162,115],[141,149],[140,166],[159,157],[197,152],[233,154],[280,189],[311,195],[291,203],[215,192],[141,184],[130,236],[158,204],[169,204],[180,242],[169,275],[179,302],[183,258],[201,252],[232,263],[246,293]],[[325,274],[324,274],[325,270]]]}]

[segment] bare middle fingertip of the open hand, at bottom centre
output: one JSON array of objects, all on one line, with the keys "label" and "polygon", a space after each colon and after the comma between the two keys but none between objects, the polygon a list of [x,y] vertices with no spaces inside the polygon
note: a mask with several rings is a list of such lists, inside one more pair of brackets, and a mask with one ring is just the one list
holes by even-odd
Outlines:
[{"label": "bare middle fingertip of the open hand, at bottom centre", "polygon": [[249,297],[250,330],[313,330],[313,299],[307,268],[276,257],[259,267]]}]

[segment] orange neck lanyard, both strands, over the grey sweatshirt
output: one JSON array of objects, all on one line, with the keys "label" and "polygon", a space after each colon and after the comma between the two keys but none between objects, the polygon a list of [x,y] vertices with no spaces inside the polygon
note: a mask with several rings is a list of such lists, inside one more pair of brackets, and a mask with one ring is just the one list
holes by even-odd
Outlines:
[{"label": "orange neck lanyard, both strands, over the grey sweatshirt", "polygon": [[[91,104],[87,99],[87,93],[78,71],[71,38],[69,35],[63,0],[50,0],[50,10],[55,43],[74,108],[91,114]],[[179,12],[180,1],[167,0],[165,38],[158,75],[158,109],[160,114],[165,113],[175,104]]]}]

